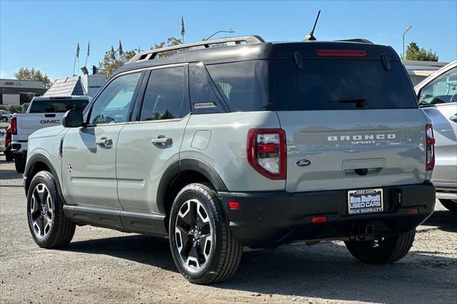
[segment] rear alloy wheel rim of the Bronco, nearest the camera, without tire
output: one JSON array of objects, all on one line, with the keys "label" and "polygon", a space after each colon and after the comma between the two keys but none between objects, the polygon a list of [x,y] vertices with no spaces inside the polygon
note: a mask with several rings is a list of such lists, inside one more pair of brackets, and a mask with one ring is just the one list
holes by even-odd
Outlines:
[{"label": "rear alloy wheel rim of the Bronco, nearest the camera, without tire", "polygon": [[196,199],[186,201],[176,218],[176,248],[189,270],[203,268],[213,252],[213,231],[208,213]]}]

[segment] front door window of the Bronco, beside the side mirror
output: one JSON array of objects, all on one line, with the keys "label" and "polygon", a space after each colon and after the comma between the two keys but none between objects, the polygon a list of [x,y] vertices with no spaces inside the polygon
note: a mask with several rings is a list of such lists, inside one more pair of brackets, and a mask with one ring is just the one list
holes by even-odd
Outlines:
[{"label": "front door window of the Bronco, beside the side mirror", "polygon": [[123,123],[141,72],[119,76],[109,83],[92,107],[89,123]]}]

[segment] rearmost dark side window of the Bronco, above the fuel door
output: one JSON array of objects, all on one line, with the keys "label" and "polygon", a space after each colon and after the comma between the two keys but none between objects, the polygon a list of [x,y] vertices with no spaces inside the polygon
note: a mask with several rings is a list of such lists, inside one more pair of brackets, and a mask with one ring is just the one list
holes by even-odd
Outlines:
[{"label": "rearmost dark side window of the Bronco, above the fuel door", "polygon": [[230,111],[261,111],[268,106],[268,62],[206,65]]}]

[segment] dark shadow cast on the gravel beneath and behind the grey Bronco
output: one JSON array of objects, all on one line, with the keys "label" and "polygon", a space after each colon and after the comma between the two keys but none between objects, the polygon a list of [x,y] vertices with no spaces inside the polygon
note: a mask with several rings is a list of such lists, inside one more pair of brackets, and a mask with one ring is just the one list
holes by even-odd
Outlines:
[{"label": "dark shadow cast on the gravel beneath and behind the grey Bronco", "polygon": [[[454,215],[438,211],[426,225],[447,229],[453,223]],[[112,255],[177,271],[168,240],[146,235],[79,241],[67,250]],[[436,251],[411,251],[397,263],[365,265],[353,259],[342,243],[326,242],[243,253],[233,278],[213,288],[341,301],[446,303],[455,300],[456,275],[457,259]],[[430,292],[433,286],[435,294]]]}]

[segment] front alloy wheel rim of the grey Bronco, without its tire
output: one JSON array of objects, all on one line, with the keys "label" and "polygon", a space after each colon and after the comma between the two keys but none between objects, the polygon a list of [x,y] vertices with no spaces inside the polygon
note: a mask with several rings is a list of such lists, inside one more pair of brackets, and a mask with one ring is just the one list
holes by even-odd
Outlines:
[{"label": "front alloy wheel rim of the grey Bronco, without its tire", "polygon": [[32,230],[37,238],[44,238],[52,228],[54,203],[44,183],[34,188],[31,196],[29,216]]}]

